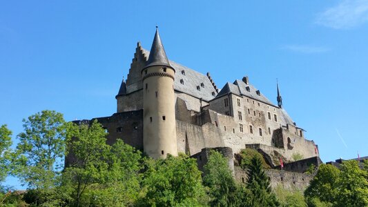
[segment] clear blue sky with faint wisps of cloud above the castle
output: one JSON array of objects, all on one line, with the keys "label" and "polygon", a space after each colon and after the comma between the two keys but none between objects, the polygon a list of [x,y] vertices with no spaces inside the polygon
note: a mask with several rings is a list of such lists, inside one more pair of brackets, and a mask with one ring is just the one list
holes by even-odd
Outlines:
[{"label": "clear blue sky with faint wisps of cloud above the castle", "polygon": [[323,161],[368,156],[367,0],[1,1],[0,125],[15,141],[41,110],[112,115],[136,43],[149,50],[156,25],[168,58],[219,88],[248,75],[276,103],[278,79]]}]

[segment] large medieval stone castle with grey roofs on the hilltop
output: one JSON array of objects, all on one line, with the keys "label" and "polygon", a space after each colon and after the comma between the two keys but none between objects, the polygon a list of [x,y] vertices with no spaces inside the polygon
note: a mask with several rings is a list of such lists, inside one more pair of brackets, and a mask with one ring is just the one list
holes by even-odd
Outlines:
[{"label": "large medieval stone castle with grey roofs on the hilltop", "polygon": [[[108,144],[123,139],[153,158],[204,148],[254,148],[271,166],[280,157],[292,161],[319,157],[318,146],[304,137],[282,107],[273,104],[248,77],[220,90],[209,72],[203,75],[169,60],[156,29],[151,51],[137,43],[126,81],[116,95],[117,112],[97,118],[108,130]],[[79,123],[88,120],[77,121]]]}]

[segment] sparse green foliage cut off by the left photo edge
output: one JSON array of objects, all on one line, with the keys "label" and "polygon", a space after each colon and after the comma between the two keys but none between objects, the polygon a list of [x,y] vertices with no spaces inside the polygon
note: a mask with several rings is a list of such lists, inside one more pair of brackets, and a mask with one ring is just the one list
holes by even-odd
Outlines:
[{"label": "sparse green foliage cut off by the left photo edge", "polygon": [[0,126],[0,184],[10,172],[10,146],[12,146],[12,132],[6,125]]}]

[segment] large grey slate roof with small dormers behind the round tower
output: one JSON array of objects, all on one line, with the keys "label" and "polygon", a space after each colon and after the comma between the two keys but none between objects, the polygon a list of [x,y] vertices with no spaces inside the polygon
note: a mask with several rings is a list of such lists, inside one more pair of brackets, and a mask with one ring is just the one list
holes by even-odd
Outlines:
[{"label": "large grey slate roof with small dormers behind the round tower", "polygon": [[[142,50],[144,55],[148,57],[150,52],[145,49]],[[175,63],[174,61],[168,61],[171,67],[175,70],[175,90],[183,92],[187,95],[191,95],[198,99],[202,98],[204,101],[210,101],[211,99],[215,98],[217,92],[213,87],[209,77],[191,68],[182,66],[179,63]],[[182,71],[184,71],[184,74]],[[180,82],[181,80],[183,83]],[[201,83],[203,83],[203,85]],[[197,90],[197,86],[199,86],[200,90]]]}]

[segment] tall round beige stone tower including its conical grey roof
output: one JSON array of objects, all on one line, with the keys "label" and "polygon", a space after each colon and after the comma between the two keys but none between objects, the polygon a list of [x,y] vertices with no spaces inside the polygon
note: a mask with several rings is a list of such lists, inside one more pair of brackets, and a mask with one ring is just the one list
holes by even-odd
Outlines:
[{"label": "tall round beige stone tower including its conical grey roof", "polygon": [[156,27],[151,52],[142,70],[143,149],[150,157],[177,156],[175,69],[170,66]]}]

